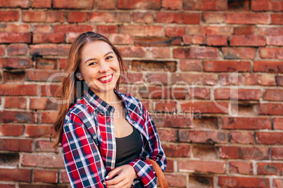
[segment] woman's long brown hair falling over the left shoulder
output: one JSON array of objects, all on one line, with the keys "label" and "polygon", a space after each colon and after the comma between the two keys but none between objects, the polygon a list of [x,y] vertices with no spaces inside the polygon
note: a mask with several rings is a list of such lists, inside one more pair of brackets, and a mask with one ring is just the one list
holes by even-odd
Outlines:
[{"label": "woman's long brown hair falling over the left shoulder", "polygon": [[[63,78],[60,88],[61,101],[64,102],[61,102],[61,104],[58,105],[58,115],[56,117],[55,123],[52,126],[53,134],[51,134],[50,137],[51,147],[57,147],[60,144],[63,135],[63,123],[65,121],[65,116],[68,112],[68,109],[71,107],[71,105],[74,104],[77,98],[80,98],[80,95],[82,95],[82,93],[77,93],[77,91],[80,90],[79,88],[77,88],[77,85],[83,86],[85,83],[84,81],[77,79],[75,74],[77,74],[77,72],[79,71],[79,65],[82,61],[82,47],[85,44],[94,41],[103,41],[111,46],[114,53],[117,55],[120,72],[122,74],[125,74],[125,64],[122,61],[122,56],[120,55],[118,48],[116,48],[105,36],[94,32],[85,32],[80,34],[80,36],[77,36],[72,46],[70,47],[68,54],[68,63],[65,68],[65,73],[67,76]],[[80,82],[81,84],[77,84]],[[117,90],[119,88],[119,82],[120,77],[115,86]],[[84,92],[84,90],[82,90],[82,92]]]}]

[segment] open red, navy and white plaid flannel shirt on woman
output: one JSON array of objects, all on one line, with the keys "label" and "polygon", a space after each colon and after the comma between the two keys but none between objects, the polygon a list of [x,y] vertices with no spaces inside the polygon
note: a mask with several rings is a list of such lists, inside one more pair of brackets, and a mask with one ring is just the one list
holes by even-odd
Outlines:
[{"label": "open red, navy and white plaid flannel shirt on woman", "polygon": [[[139,159],[129,164],[139,179],[132,187],[156,187],[156,175],[150,163],[153,159],[166,168],[166,158],[156,126],[142,102],[130,94],[115,90],[125,105],[127,121],[142,136]],[[106,175],[115,168],[114,108],[101,100],[92,90],[70,107],[63,125],[63,159],[72,187],[105,187]]]}]

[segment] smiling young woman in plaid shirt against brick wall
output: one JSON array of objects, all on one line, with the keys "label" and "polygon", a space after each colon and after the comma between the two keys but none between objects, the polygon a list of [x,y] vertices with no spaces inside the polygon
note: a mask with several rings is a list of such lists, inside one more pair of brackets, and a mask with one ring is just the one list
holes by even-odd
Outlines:
[{"label": "smiling young woman in plaid shirt against brick wall", "polygon": [[[72,187],[156,187],[145,160],[166,168],[149,112],[118,92],[124,67],[118,49],[101,34],[80,34],[70,48],[52,138],[54,147],[63,146]],[[83,83],[88,89],[80,93]]]}]

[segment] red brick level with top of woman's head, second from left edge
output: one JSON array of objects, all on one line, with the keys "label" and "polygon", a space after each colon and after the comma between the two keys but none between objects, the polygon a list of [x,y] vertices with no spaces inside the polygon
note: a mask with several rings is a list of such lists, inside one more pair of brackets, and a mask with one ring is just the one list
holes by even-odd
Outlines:
[{"label": "red brick level with top of woman's head, second from left edge", "polygon": [[40,33],[33,34],[32,43],[63,43],[65,34],[63,33]]}]

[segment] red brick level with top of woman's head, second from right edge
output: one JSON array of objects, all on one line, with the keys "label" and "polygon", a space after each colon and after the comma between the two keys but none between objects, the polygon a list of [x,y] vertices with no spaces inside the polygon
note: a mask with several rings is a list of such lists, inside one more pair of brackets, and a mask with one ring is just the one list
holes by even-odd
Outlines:
[{"label": "red brick level with top of woman's head, second from right edge", "polygon": [[232,35],[230,46],[265,46],[265,38],[260,35]]}]

